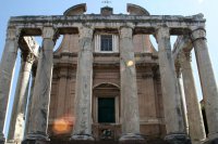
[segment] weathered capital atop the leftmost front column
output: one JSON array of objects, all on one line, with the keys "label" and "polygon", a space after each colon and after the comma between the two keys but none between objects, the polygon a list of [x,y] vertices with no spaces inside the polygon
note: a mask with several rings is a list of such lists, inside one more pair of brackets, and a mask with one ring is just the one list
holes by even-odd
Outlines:
[{"label": "weathered capital atop the leftmost front column", "polygon": [[9,40],[19,40],[21,35],[21,29],[16,27],[8,27],[7,29],[7,39]]}]

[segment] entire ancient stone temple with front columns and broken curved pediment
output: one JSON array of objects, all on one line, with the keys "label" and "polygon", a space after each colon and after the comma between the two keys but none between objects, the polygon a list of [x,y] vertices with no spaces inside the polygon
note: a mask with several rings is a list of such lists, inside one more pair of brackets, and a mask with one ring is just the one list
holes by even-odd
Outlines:
[{"label": "entire ancient stone temple with front columns and broken curved pediment", "polygon": [[[84,14],[83,3],[63,15],[10,18],[0,63],[0,144],[218,144],[218,90],[204,16],[150,15],[134,4],[126,9],[129,14],[113,14],[109,6]],[[41,36],[41,44],[35,36]],[[173,48],[170,36],[178,36]],[[192,74],[193,49],[208,135]]]}]

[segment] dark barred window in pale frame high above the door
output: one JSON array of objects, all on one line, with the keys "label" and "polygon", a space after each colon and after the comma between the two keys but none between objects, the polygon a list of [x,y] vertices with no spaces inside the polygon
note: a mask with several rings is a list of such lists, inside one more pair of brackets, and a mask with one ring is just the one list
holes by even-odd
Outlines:
[{"label": "dark barred window in pale frame high above the door", "polygon": [[112,51],[112,35],[100,36],[100,51]]}]

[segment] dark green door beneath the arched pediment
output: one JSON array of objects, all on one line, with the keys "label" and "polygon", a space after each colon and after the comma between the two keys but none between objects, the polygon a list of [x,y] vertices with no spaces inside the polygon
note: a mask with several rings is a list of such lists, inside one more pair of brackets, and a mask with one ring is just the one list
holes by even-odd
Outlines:
[{"label": "dark green door beneath the arched pediment", "polygon": [[114,97],[98,99],[98,122],[99,123],[116,122]]}]

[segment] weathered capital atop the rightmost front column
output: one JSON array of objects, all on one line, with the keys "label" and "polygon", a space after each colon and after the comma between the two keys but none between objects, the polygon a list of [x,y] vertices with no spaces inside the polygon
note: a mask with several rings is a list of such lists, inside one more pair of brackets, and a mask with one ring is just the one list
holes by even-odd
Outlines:
[{"label": "weathered capital atop the rightmost front column", "polygon": [[204,27],[194,27],[191,30],[191,39],[193,42],[198,39],[206,39],[206,30]]}]

